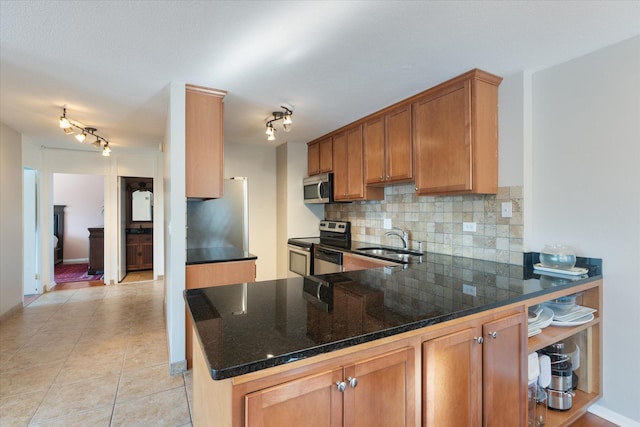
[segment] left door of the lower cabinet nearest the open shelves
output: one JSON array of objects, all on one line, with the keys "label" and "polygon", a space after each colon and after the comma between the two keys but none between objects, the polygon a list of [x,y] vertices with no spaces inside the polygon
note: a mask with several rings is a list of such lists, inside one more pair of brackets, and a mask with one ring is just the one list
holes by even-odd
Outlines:
[{"label": "left door of the lower cabinet nearest the open shelves", "polygon": [[480,425],[482,345],[474,340],[480,332],[470,327],[422,344],[423,426]]}]

